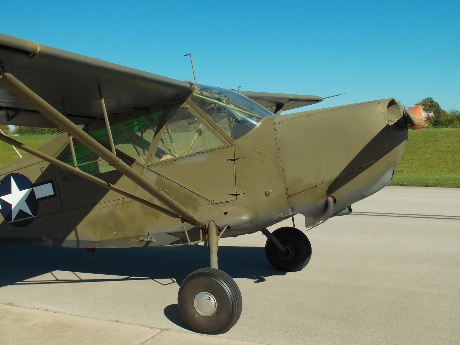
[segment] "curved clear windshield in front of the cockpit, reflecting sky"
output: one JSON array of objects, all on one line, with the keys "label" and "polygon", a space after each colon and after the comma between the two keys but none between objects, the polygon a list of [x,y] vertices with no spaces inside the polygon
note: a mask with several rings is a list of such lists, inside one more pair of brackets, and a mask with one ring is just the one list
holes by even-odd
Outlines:
[{"label": "curved clear windshield in front of the cockpit, reflecting sky", "polygon": [[242,94],[219,87],[196,85],[190,100],[234,140],[274,115]]}]

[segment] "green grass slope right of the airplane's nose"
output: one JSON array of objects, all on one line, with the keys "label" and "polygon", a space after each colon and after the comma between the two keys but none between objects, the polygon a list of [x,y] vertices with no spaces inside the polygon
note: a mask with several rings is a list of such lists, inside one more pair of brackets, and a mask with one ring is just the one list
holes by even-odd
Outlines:
[{"label": "green grass slope right of the airplane's nose", "polygon": [[460,128],[409,130],[390,185],[460,187]]}]

